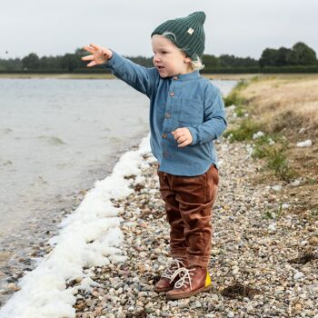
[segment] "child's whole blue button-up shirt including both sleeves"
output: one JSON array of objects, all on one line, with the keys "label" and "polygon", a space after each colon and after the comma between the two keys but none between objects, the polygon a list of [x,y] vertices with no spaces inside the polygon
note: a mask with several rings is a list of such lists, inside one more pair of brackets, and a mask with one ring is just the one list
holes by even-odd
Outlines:
[{"label": "child's whole blue button-up shirt including both sleeves", "polygon": [[[226,128],[224,102],[217,87],[199,71],[167,78],[154,68],[136,65],[118,55],[104,65],[119,79],[150,99],[150,144],[160,171],[194,176],[217,166],[214,140]],[[193,142],[179,148],[176,128],[187,127]]]}]

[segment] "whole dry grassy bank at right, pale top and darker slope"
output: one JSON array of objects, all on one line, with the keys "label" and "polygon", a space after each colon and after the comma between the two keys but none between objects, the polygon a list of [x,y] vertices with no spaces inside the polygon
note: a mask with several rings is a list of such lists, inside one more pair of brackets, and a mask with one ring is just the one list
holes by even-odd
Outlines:
[{"label": "whole dry grassy bank at right, pale top and darker slope", "polygon": [[[285,161],[296,173],[295,178],[303,180],[299,186],[286,187],[281,200],[283,202],[288,200],[292,204],[291,212],[308,214],[308,221],[316,222],[318,220],[318,76],[278,75],[271,78],[256,78],[240,91],[240,97],[246,100],[248,112],[252,114],[253,120],[262,126],[263,131],[283,137],[286,142]],[[304,148],[296,146],[296,143],[307,139],[313,141],[312,146]],[[275,146],[277,147],[277,144]],[[268,182],[271,183],[270,180]]]}]

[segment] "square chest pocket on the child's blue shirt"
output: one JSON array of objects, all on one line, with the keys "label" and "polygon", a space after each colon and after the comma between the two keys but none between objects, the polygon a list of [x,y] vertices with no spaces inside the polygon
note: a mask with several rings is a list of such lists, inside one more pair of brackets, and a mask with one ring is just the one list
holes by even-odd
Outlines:
[{"label": "square chest pocket on the child's blue shirt", "polygon": [[183,98],[181,100],[179,122],[202,124],[204,122],[204,103],[200,99]]}]

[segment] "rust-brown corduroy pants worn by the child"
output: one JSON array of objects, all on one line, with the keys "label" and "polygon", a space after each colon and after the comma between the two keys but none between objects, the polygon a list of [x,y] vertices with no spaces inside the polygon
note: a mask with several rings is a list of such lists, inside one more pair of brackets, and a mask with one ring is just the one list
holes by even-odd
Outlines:
[{"label": "rust-brown corduroy pants worn by the child", "polygon": [[212,207],[219,176],[214,165],[205,174],[179,176],[159,172],[160,193],[170,224],[171,256],[206,267],[210,260]]}]

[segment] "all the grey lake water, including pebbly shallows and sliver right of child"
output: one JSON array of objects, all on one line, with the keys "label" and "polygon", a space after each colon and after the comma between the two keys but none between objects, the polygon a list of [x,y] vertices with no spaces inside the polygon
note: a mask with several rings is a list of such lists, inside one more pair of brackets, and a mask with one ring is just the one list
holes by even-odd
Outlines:
[{"label": "all the grey lake water, including pebbly shallows and sliver right of child", "polygon": [[148,133],[148,109],[119,80],[0,79],[0,306],[82,190]]}]

